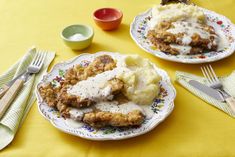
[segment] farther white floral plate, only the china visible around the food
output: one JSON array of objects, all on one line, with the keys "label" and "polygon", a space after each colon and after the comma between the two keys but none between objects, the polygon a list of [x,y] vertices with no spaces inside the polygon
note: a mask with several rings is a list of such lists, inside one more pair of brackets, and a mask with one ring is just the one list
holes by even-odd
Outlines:
[{"label": "farther white floral plate, only the china visible around the food", "polygon": [[227,38],[228,46],[225,47],[224,50],[217,52],[213,51],[199,55],[171,55],[157,50],[146,37],[149,30],[148,22],[151,19],[152,9],[149,9],[148,11],[135,17],[130,26],[131,37],[136,42],[136,44],[146,52],[149,52],[159,58],[174,62],[190,64],[206,63],[217,61],[233,54],[235,51],[234,24],[232,24],[231,21],[225,16],[219,15],[204,8],[200,9],[205,13],[208,25],[221,30],[221,32],[223,32]]}]

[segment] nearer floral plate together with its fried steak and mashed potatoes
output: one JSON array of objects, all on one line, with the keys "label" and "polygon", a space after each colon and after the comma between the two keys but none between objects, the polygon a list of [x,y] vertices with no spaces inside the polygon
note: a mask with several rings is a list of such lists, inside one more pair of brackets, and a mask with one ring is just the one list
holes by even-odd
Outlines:
[{"label": "nearer floral plate together with its fried steak and mashed potatoes", "polygon": [[37,86],[40,113],[59,130],[119,140],[155,128],[173,110],[167,73],[138,55],[82,54],[56,64]]}]

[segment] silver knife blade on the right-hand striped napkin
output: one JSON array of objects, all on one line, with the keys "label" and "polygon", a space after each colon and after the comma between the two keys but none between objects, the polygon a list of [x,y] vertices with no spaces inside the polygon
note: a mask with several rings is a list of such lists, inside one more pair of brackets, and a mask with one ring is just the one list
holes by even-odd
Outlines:
[{"label": "silver knife blade on the right-hand striped napkin", "polygon": [[206,95],[208,95],[216,100],[225,101],[223,96],[220,94],[220,92],[218,92],[217,90],[215,90],[211,87],[208,87],[208,86],[206,86],[198,81],[195,81],[195,80],[190,80],[189,84],[191,86],[193,86],[194,88],[200,90],[201,92],[205,93]]}]

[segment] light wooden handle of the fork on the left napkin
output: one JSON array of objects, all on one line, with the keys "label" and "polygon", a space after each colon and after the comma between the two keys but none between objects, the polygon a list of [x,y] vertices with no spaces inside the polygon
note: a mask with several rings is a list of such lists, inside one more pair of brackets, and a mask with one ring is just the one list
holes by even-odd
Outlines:
[{"label": "light wooden handle of the fork on the left napkin", "polygon": [[0,100],[0,119],[5,114],[6,110],[8,109],[12,101],[15,99],[20,89],[23,87],[23,84],[23,80],[16,80],[15,83],[9,88],[9,90]]}]

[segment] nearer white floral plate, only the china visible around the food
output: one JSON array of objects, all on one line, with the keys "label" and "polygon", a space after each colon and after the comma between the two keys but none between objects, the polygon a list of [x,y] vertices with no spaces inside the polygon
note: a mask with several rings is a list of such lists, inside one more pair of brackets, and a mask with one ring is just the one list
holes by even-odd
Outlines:
[{"label": "nearer white floral plate, only the china visible around the food", "polygon": [[95,57],[102,54],[108,54],[113,58],[121,55],[119,53],[111,52],[82,54],[67,62],[56,64],[51,72],[44,75],[36,89],[39,112],[59,130],[90,140],[119,140],[135,137],[152,130],[171,113],[174,108],[174,99],[176,96],[176,91],[170,82],[169,76],[164,70],[159,69],[156,66],[154,66],[154,68],[162,77],[160,82],[161,92],[150,106],[151,110],[154,111],[153,117],[151,119],[145,119],[139,127],[104,127],[96,129],[85,123],[81,123],[79,127],[71,127],[71,125],[68,125],[66,120],[60,116],[60,113],[57,110],[47,106],[47,104],[43,102],[38,92],[40,85],[50,82],[52,85],[57,86],[60,81],[64,79],[65,71],[68,68],[77,64],[87,66]]}]

